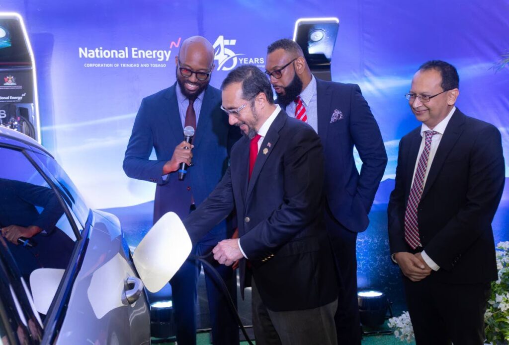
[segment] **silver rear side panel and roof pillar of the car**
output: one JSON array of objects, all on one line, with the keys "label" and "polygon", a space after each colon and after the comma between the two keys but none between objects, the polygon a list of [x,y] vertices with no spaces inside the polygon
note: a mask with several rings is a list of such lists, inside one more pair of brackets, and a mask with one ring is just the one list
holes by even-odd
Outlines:
[{"label": "silver rear side panel and roof pillar of the car", "polygon": [[[30,155],[65,196],[75,222],[86,225],[88,208],[68,175],[50,156],[42,152]],[[97,344],[149,343],[148,302],[130,260],[120,222],[116,216],[101,211],[91,211],[88,217],[90,225],[81,232],[87,244],[58,343],[80,339]]]}]

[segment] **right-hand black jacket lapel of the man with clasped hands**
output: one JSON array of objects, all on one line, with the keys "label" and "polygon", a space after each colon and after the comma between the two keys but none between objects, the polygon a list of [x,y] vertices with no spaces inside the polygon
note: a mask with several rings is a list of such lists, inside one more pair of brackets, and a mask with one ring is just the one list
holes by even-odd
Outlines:
[{"label": "right-hand black jacket lapel of the man with clasped hands", "polygon": [[463,132],[464,122],[465,115],[459,109],[456,109],[453,116],[450,118],[449,123],[447,123],[445,132],[440,140],[440,144],[438,145],[435,158],[433,159],[430,172],[428,173],[428,178],[426,179],[424,190],[422,191],[421,199],[426,196],[426,193],[430,190],[433,182],[440,173],[440,170],[442,170],[442,165],[444,164],[449,151],[454,147],[456,141],[458,141],[461,133]]}]

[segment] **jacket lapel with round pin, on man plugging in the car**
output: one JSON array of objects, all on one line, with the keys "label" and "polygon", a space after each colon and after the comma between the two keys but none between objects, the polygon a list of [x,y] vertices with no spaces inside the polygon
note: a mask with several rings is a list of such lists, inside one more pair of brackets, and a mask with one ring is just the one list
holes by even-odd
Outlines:
[{"label": "jacket lapel with round pin, on man plugging in the car", "polygon": [[[267,159],[269,158],[270,154],[274,150],[274,147],[276,146],[277,140],[279,139],[279,130],[285,124],[287,116],[288,115],[285,113],[285,111],[281,110],[274,119],[274,122],[272,122],[269,131],[267,132],[267,135],[263,139],[262,146],[260,146],[260,151],[258,151],[256,162],[254,162],[251,179],[249,180],[249,183],[247,185],[246,205],[252,193],[254,184],[256,183],[256,180],[258,179],[258,176],[260,175],[260,172],[262,171],[265,162],[267,162]],[[268,143],[270,143],[270,147],[267,145]],[[247,151],[249,152],[249,150]]]}]

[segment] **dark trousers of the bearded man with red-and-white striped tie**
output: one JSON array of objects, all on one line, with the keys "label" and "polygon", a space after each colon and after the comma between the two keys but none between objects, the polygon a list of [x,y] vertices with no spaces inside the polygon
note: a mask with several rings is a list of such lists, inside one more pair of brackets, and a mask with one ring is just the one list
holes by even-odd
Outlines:
[{"label": "dark trousers of the bearded man with red-and-white striped tie", "polygon": [[357,299],[357,233],[351,232],[325,212],[325,224],[332,244],[340,285],[337,311],[334,316],[337,343],[360,345],[360,316]]}]

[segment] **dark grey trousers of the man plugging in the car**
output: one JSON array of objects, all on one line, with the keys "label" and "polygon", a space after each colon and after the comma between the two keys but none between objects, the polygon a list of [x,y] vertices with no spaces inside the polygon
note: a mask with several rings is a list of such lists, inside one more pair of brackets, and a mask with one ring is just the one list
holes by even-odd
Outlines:
[{"label": "dark grey trousers of the man plugging in the car", "polygon": [[337,300],[313,309],[272,311],[263,303],[254,278],[251,285],[257,345],[337,345],[334,326]]}]

